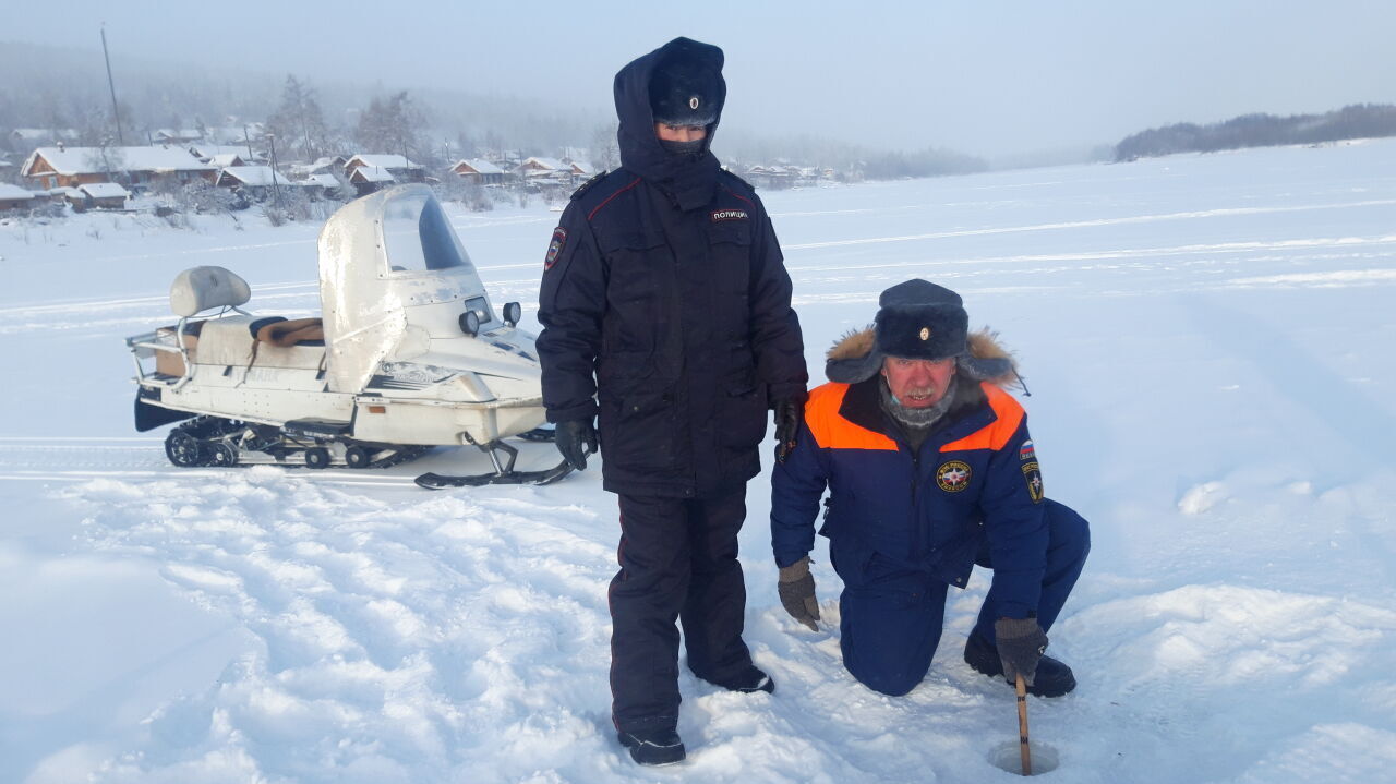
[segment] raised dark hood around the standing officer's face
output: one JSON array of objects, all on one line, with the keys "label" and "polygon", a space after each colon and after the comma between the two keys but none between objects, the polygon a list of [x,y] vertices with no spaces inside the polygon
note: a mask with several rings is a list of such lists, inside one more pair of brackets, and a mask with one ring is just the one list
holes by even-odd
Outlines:
[{"label": "raised dark hood around the standing officer's face", "polygon": [[[655,114],[649,107],[649,81],[655,70],[671,57],[701,61],[716,71],[718,119],[708,126],[708,135],[699,152],[674,155],[666,151],[655,135]],[[645,181],[671,195],[680,209],[695,209],[712,201],[722,169],[712,153],[712,137],[722,121],[722,106],[727,99],[727,82],[722,78],[722,49],[688,38],[676,38],[659,49],[637,57],[616,74],[616,116],[620,131],[621,166],[639,174]]]}]

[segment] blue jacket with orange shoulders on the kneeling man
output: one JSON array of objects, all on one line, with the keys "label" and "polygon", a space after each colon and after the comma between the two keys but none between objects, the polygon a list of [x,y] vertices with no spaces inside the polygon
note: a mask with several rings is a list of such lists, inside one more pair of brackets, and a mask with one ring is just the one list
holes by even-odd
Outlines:
[{"label": "blue jacket with orange shoulders on the kneeling man", "polygon": [[956,377],[955,405],[913,451],[882,412],[879,384],[874,375],[810,393],[799,444],[772,476],[776,565],[814,548],[828,490],[819,533],[831,547],[965,587],[987,538],[1001,612],[1036,612],[1047,529],[1026,412],[994,384]]}]

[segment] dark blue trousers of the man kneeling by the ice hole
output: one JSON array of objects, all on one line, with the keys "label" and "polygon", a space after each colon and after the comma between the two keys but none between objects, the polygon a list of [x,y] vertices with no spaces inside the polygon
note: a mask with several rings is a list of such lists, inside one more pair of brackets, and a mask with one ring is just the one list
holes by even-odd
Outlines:
[{"label": "dark blue trousers of the man kneeling by the ice hole", "polygon": [[[1048,526],[1047,569],[1037,604],[1037,622],[1051,629],[1071,594],[1090,552],[1086,520],[1069,506],[1044,501]],[[839,644],[843,665],[867,688],[900,696],[921,682],[941,642],[946,583],[924,571],[906,569],[872,555],[871,559],[839,558],[831,543],[833,568],[843,578],[839,597]],[[850,564],[852,561],[852,564]],[[860,562],[861,561],[861,562]],[[974,562],[993,568],[988,541],[980,544]],[[974,632],[994,642],[998,611],[986,598]]]}]

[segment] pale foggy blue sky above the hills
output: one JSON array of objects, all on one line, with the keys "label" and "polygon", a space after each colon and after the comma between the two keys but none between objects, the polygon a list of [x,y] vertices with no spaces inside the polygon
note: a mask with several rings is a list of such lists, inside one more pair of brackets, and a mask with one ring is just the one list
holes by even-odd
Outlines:
[{"label": "pale foggy blue sky above the hills", "polygon": [[0,46],[99,49],[105,22],[131,56],[606,112],[621,66],[687,35],[726,50],[725,127],[990,156],[1396,103],[1396,3],[1378,0],[64,0],[4,17]]}]

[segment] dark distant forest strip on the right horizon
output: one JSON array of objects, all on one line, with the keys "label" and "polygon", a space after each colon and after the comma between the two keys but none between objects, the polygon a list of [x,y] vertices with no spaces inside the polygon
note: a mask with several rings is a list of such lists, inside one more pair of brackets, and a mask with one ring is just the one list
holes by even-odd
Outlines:
[{"label": "dark distant forest strip on the right horizon", "polygon": [[1357,103],[1326,114],[1242,114],[1210,126],[1178,123],[1125,137],[1115,145],[1115,160],[1376,137],[1396,137],[1396,106]]}]

